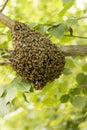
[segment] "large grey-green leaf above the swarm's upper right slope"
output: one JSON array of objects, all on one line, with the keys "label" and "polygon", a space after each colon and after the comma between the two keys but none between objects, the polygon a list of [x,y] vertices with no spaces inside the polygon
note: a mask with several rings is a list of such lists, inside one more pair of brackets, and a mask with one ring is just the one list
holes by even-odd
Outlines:
[{"label": "large grey-green leaf above the swarm's upper right slope", "polygon": [[64,36],[64,32],[66,30],[67,30],[67,26],[65,24],[53,26],[48,29],[49,33],[58,39],[62,39],[62,37]]}]

